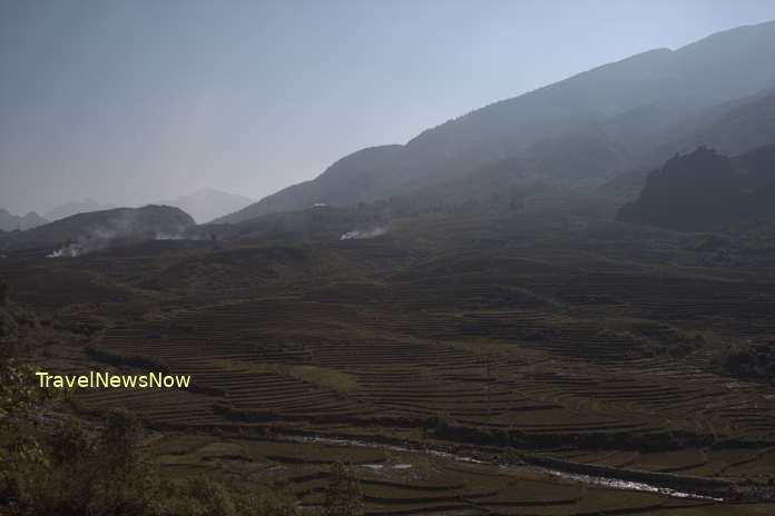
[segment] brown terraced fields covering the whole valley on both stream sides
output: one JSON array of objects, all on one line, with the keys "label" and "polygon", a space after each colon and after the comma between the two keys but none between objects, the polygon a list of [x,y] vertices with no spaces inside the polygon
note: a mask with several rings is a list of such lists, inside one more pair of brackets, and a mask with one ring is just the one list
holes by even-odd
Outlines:
[{"label": "brown terraced fields covering the whole valley on both stream sides", "polygon": [[[151,448],[165,467],[282,482],[314,506],[330,464],[346,459],[370,514],[765,514],[537,468],[705,477],[751,503],[769,496],[756,486],[775,478],[775,389],[713,358],[775,341],[773,271],[676,265],[669,242],[548,238],[489,219],[467,224],[498,245],[472,246],[443,220],[420,222],[305,246],[27,250],[0,274],[72,336],[48,348],[50,369],[192,375],[187,390],[76,396],[85,413],[137,411],[163,433]],[[283,440],[312,435],[345,441]],[[409,452],[423,447],[487,464]]]}]

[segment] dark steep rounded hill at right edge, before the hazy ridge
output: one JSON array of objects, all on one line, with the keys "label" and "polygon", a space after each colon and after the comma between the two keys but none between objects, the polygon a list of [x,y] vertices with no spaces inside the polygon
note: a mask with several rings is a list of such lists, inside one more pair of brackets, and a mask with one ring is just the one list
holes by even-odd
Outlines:
[{"label": "dark steep rounded hill at right edge, before the hazy ridge", "polygon": [[679,230],[775,220],[775,145],[735,158],[707,147],[676,156],[648,176],[619,219]]}]

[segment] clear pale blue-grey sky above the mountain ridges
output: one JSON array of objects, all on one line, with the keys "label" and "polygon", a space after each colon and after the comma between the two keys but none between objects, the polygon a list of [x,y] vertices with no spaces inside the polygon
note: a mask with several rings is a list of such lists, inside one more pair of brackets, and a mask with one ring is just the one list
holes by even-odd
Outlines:
[{"label": "clear pale blue-grey sky above the mountain ridges", "polygon": [[254,199],[771,0],[0,0],[0,208]]}]

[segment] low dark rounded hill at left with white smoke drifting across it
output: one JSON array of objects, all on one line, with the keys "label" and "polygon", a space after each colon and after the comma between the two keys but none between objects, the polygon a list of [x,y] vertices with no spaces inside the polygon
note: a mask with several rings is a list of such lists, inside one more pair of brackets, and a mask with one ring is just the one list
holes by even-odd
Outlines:
[{"label": "low dark rounded hill at left with white smoke drifting across it", "polygon": [[77,255],[121,239],[178,238],[195,225],[179,208],[150,205],[72,215],[18,234],[16,240],[65,245],[69,255]]}]

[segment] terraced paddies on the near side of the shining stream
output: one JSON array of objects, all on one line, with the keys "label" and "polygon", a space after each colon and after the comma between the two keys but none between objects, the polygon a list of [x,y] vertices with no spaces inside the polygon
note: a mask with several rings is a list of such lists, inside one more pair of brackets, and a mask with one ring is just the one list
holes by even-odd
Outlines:
[{"label": "terraced paddies on the near side of the shining stream", "polygon": [[[345,462],[359,478],[367,515],[766,514],[761,505],[666,497],[580,485],[534,468],[492,467],[461,458],[337,443],[258,437],[166,435],[150,445],[176,473],[283,486],[303,507],[323,502],[330,467]],[[762,510],[759,510],[762,508]]]}]

